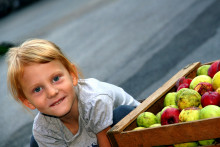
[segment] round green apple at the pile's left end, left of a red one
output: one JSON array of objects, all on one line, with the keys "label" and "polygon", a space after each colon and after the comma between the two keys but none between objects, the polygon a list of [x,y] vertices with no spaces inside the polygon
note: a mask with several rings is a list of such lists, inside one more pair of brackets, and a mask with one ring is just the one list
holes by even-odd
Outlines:
[{"label": "round green apple at the pile's left end, left of a red one", "polygon": [[137,117],[138,127],[148,128],[156,123],[158,123],[157,117],[151,112],[143,112]]}]

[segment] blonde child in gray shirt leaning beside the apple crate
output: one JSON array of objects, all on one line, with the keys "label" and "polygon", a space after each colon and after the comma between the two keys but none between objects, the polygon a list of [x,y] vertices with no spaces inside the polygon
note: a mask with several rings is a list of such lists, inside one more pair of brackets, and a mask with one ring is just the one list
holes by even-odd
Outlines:
[{"label": "blonde child in gray shirt leaning beside the apple crate", "polygon": [[33,123],[39,146],[110,146],[106,132],[122,115],[113,111],[139,104],[117,86],[80,79],[77,67],[50,41],[28,40],[11,48],[7,60],[13,97],[39,111]]}]

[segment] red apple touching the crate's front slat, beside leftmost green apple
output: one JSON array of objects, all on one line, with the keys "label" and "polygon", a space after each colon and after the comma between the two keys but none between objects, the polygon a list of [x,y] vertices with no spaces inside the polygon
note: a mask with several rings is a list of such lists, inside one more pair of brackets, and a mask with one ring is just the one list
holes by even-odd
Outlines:
[{"label": "red apple touching the crate's front slat, beside leftmost green apple", "polygon": [[167,108],[161,115],[161,125],[169,125],[179,122],[180,110],[177,108]]}]

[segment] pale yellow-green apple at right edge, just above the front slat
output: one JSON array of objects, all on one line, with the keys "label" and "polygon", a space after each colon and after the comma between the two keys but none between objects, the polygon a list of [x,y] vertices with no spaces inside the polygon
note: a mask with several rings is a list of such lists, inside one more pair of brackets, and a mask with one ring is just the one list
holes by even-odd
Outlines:
[{"label": "pale yellow-green apple at right edge, just above the front slat", "polygon": [[220,107],[216,105],[208,105],[201,109],[199,118],[206,119],[220,116]]}]

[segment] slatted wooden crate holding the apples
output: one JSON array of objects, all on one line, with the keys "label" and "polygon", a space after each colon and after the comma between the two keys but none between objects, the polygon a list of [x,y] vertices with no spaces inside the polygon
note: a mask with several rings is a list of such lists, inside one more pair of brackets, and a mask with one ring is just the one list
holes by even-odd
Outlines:
[{"label": "slatted wooden crate holding the apples", "polygon": [[[213,62],[205,64],[211,64]],[[112,127],[107,132],[112,146],[150,147],[220,138],[220,118],[183,122],[156,128],[146,128],[143,130],[132,130],[137,127],[136,119],[140,113],[149,111],[157,114],[161,111],[166,94],[168,92],[176,91],[176,81],[183,76],[194,78],[196,76],[197,69],[201,65],[202,64],[200,62],[196,62],[181,69],[162,87],[145,99],[136,109]]]}]

